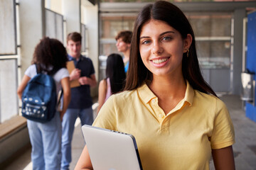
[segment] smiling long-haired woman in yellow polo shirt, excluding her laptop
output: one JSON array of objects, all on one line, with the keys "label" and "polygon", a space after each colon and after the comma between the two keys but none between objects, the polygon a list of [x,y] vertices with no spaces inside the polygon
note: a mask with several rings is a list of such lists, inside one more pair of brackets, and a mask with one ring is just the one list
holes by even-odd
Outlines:
[{"label": "smiling long-haired woman in yellow polo shirt, excluding her laptop", "polygon": [[[102,106],[94,126],[137,140],[143,169],[235,169],[233,123],[203,80],[195,36],[167,1],[142,8],[134,25],[124,91]],[[87,148],[76,169],[92,169]]]}]

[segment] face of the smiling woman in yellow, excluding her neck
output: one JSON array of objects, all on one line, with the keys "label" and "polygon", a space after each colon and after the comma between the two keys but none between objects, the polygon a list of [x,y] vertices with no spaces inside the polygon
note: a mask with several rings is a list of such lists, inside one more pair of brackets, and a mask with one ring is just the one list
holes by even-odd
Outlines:
[{"label": "face of the smiling woman in yellow, excluding her neck", "polygon": [[191,45],[188,34],[181,33],[164,21],[150,20],[142,26],[139,52],[145,67],[155,76],[182,76],[182,57]]}]

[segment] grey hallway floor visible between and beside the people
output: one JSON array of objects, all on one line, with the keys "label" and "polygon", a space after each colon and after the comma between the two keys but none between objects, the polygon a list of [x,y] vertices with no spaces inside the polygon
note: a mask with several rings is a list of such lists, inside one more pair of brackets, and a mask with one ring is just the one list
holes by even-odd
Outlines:
[{"label": "grey hallway floor visible between and beside the people", "polygon": [[[239,96],[225,95],[221,96],[230,111],[231,118],[235,127],[235,145],[233,150],[235,154],[235,166],[237,170],[256,170],[256,123],[245,117],[242,110],[242,101]],[[78,123],[77,123],[78,124]],[[85,142],[80,130],[80,124],[75,128],[72,143],[73,161],[70,169],[75,168],[75,164],[80,157]],[[31,169],[30,162],[31,149],[27,149],[20,157],[16,157],[14,162],[6,167],[6,170],[12,169]],[[210,162],[210,169],[214,169],[213,162]],[[4,170],[4,169],[3,169]]]}]

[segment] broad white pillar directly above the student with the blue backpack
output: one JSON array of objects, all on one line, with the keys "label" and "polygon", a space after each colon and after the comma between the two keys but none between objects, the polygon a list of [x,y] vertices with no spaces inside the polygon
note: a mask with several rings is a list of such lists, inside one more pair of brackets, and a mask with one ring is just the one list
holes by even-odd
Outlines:
[{"label": "broad white pillar directly above the student with the blue backpack", "polygon": [[20,1],[21,77],[31,65],[33,51],[44,31],[44,1]]}]

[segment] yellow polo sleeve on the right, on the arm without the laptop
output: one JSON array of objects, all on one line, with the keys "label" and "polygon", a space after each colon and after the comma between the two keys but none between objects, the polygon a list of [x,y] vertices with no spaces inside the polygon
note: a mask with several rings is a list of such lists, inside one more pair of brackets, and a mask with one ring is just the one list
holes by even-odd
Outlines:
[{"label": "yellow polo sleeve on the right, on the arm without the laptop", "polygon": [[213,134],[210,137],[212,149],[229,147],[235,143],[235,131],[230,114],[225,104],[216,102],[216,115],[214,120]]}]

